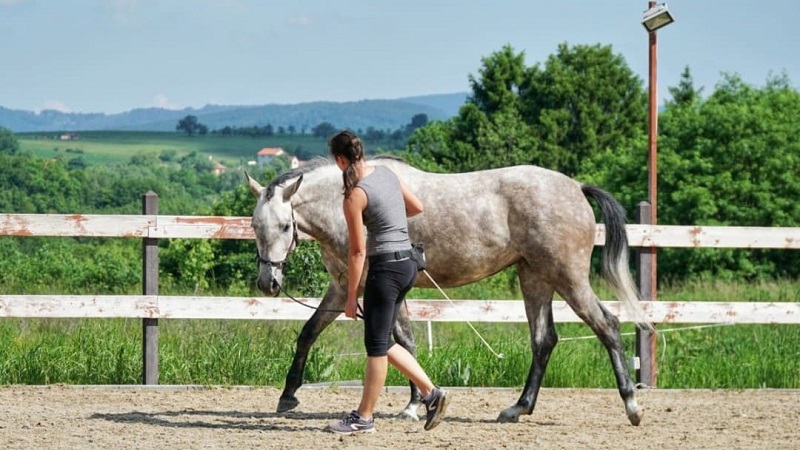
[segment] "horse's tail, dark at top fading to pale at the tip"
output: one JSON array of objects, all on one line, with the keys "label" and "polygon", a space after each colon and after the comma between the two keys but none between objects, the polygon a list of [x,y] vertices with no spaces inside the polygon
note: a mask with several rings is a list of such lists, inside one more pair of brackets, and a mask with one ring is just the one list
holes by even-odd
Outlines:
[{"label": "horse's tail, dark at top fading to pale at the tip", "polygon": [[643,329],[652,329],[647,314],[639,303],[639,290],[631,277],[628,266],[628,234],[625,231],[625,209],[610,193],[597,186],[584,184],[583,194],[597,201],[603,213],[606,227],[606,243],[603,246],[603,277],[614,293],[625,305],[632,319]]}]

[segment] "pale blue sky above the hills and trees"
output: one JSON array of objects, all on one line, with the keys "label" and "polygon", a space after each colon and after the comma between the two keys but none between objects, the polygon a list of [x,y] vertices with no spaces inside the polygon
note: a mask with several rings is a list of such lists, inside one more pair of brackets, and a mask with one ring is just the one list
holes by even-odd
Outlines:
[{"label": "pale blue sky above the hills and trees", "polygon": [[[468,92],[511,45],[611,45],[643,83],[646,0],[0,0],[0,106],[117,113]],[[658,32],[659,103],[687,65],[800,82],[797,0],[674,0]]]}]

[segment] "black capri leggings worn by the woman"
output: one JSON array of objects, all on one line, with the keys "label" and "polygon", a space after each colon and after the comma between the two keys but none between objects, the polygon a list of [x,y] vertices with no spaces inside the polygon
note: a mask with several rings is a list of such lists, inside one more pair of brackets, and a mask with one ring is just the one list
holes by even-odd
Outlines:
[{"label": "black capri leggings worn by the woman", "polygon": [[397,313],[416,281],[417,264],[411,259],[370,263],[364,286],[364,346],[367,356],[386,356],[394,345],[392,329]]}]

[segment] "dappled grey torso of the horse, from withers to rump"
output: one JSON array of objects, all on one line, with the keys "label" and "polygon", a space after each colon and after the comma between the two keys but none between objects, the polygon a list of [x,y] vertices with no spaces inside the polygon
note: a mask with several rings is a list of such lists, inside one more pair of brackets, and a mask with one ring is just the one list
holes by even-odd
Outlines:
[{"label": "dappled grey torso of the horse, from withers to rump", "polygon": [[591,206],[581,184],[561,173],[513,166],[436,174],[388,165],[424,205],[409,232],[429,249],[429,270],[446,285],[484,278],[520,258],[556,262],[576,249],[591,252]]}]

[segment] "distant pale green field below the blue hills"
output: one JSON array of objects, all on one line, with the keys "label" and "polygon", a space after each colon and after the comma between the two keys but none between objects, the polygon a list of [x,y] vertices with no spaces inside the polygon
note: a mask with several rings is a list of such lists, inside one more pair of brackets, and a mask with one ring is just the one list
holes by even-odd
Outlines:
[{"label": "distant pale green field below the blue hills", "polygon": [[324,139],[310,135],[245,137],[245,136],[192,136],[170,132],[140,131],[90,131],[80,132],[80,139],[56,140],[59,133],[17,134],[20,150],[37,156],[81,156],[87,164],[126,163],[131,156],[139,154],[161,155],[175,152],[179,158],[191,152],[212,156],[227,166],[239,165],[256,159],[264,147],[281,147],[290,154],[298,150],[306,154],[324,155],[327,143]]}]

